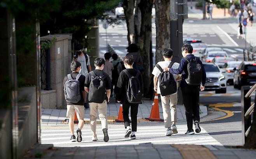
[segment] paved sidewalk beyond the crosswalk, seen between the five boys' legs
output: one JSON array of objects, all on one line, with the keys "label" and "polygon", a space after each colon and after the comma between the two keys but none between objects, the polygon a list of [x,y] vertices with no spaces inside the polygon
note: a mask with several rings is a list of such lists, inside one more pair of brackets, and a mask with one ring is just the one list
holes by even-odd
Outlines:
[{"label": "paved sidewalk beyond the crosswalk, seen between the five boys' legs", "polygon": [[[149,122],[146,121],[144,118],[150,116],[151,107],[152,107],[152,100],[144,100],[142,104],[139,105],[139,111],[138,111],[138,124]],[[107,118],[109,124],[118,124],[114,122],[114,119],[117,119],[118,112],[119,112],[120,104],[118,103],[109,103],[107,106]],[[207,108],[204,106],[200,106],[201,114],[200,117],[203,117],[207,115]],[[85,110],[85,124],[89,124],[89,109]],[[161,107],[161,102],[159,102],[159,112],[160,112],[160,118],[163,119],[163,109]],[[61,122],[63,122],[66,117],[67,109],[43,109],[41,111],[41,119],[42,119],[42,126],[54,126],[54,125],[63,125]],[[185,115],[185,108],[183,105],[177,106],[177,118],[178,121],[182,121],[186,119]],[[99,117],[97,118],[97,121],[99,120]]]}]

